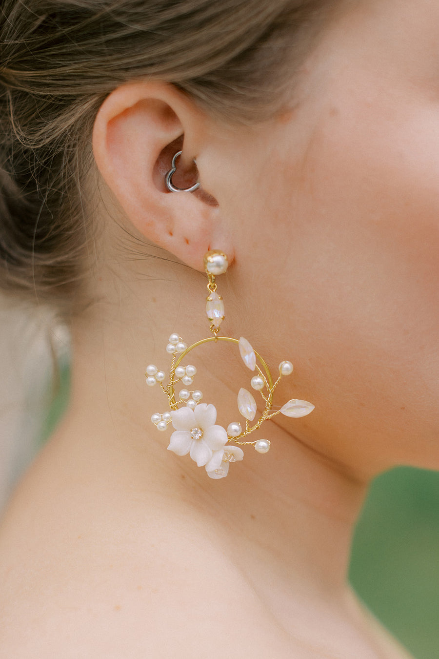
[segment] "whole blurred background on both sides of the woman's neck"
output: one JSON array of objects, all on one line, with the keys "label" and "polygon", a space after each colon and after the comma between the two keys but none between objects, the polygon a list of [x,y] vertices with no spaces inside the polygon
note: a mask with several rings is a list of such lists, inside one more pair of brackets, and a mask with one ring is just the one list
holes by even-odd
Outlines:
[{"label": "whole blurred background on both sides of the woman's neck", "polygon": [[[0,308],[1,508],[66,408],[69,340],[49,311]],[[349,579],[416,659],[439,659],[439,473],[400,467],[376,478]]]}]

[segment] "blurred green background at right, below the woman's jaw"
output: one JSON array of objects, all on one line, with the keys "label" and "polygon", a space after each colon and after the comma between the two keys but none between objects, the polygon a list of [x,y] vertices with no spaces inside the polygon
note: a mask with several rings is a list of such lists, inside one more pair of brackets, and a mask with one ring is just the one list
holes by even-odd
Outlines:
[{"label": "blurred green background at right, below the woman's jaw", "polygon": [[439,658],[439,473],[400,467],[374,480],[349,578],[416,659]]}]

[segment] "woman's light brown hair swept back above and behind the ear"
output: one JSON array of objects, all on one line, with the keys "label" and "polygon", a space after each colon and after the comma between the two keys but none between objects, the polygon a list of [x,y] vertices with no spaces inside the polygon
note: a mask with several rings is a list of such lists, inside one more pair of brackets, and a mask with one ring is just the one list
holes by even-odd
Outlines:
[{"label": "woman's light brown hair swept back above and behind the ear", "polygon": [[0,285],[69,299],[90,222],[82,181],[99,106],[159,78],[229,121],[282,100],[321,0],[3,0]]}]

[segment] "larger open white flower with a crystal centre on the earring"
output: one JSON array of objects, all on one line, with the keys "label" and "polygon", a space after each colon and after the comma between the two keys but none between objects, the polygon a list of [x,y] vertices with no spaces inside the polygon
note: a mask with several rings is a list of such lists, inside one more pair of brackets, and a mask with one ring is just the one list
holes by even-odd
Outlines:
[{"label": "larger open white flower with a crystal centre on the earring", "polygon": [[180,407],[171,414],[175,432],[170,436],[168,451],[174,451],[177,455],[190,453],[198,467],[206,465],[214,451],[221,451],[228,442],[226,430],[215,426],[215,405],[199,403],[194,410]]}]

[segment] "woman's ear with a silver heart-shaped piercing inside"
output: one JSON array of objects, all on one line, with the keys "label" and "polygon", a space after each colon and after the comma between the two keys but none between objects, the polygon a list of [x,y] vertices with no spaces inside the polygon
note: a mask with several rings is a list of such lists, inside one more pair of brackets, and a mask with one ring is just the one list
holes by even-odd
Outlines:
[{"label": "woman's ear with a silver heart-shaped piercing inside", "polygon": [[[210,248],[232,257],[226,223],[215,199],[203,190],[194,160],[203,152],[204,115],[184,94],[162,82],[133,82],[103,102],[93,129],[97,167],[128,220],[149,241],[197,270]],[[174,154],[182,150],[172,183],[165,185]]]}]

